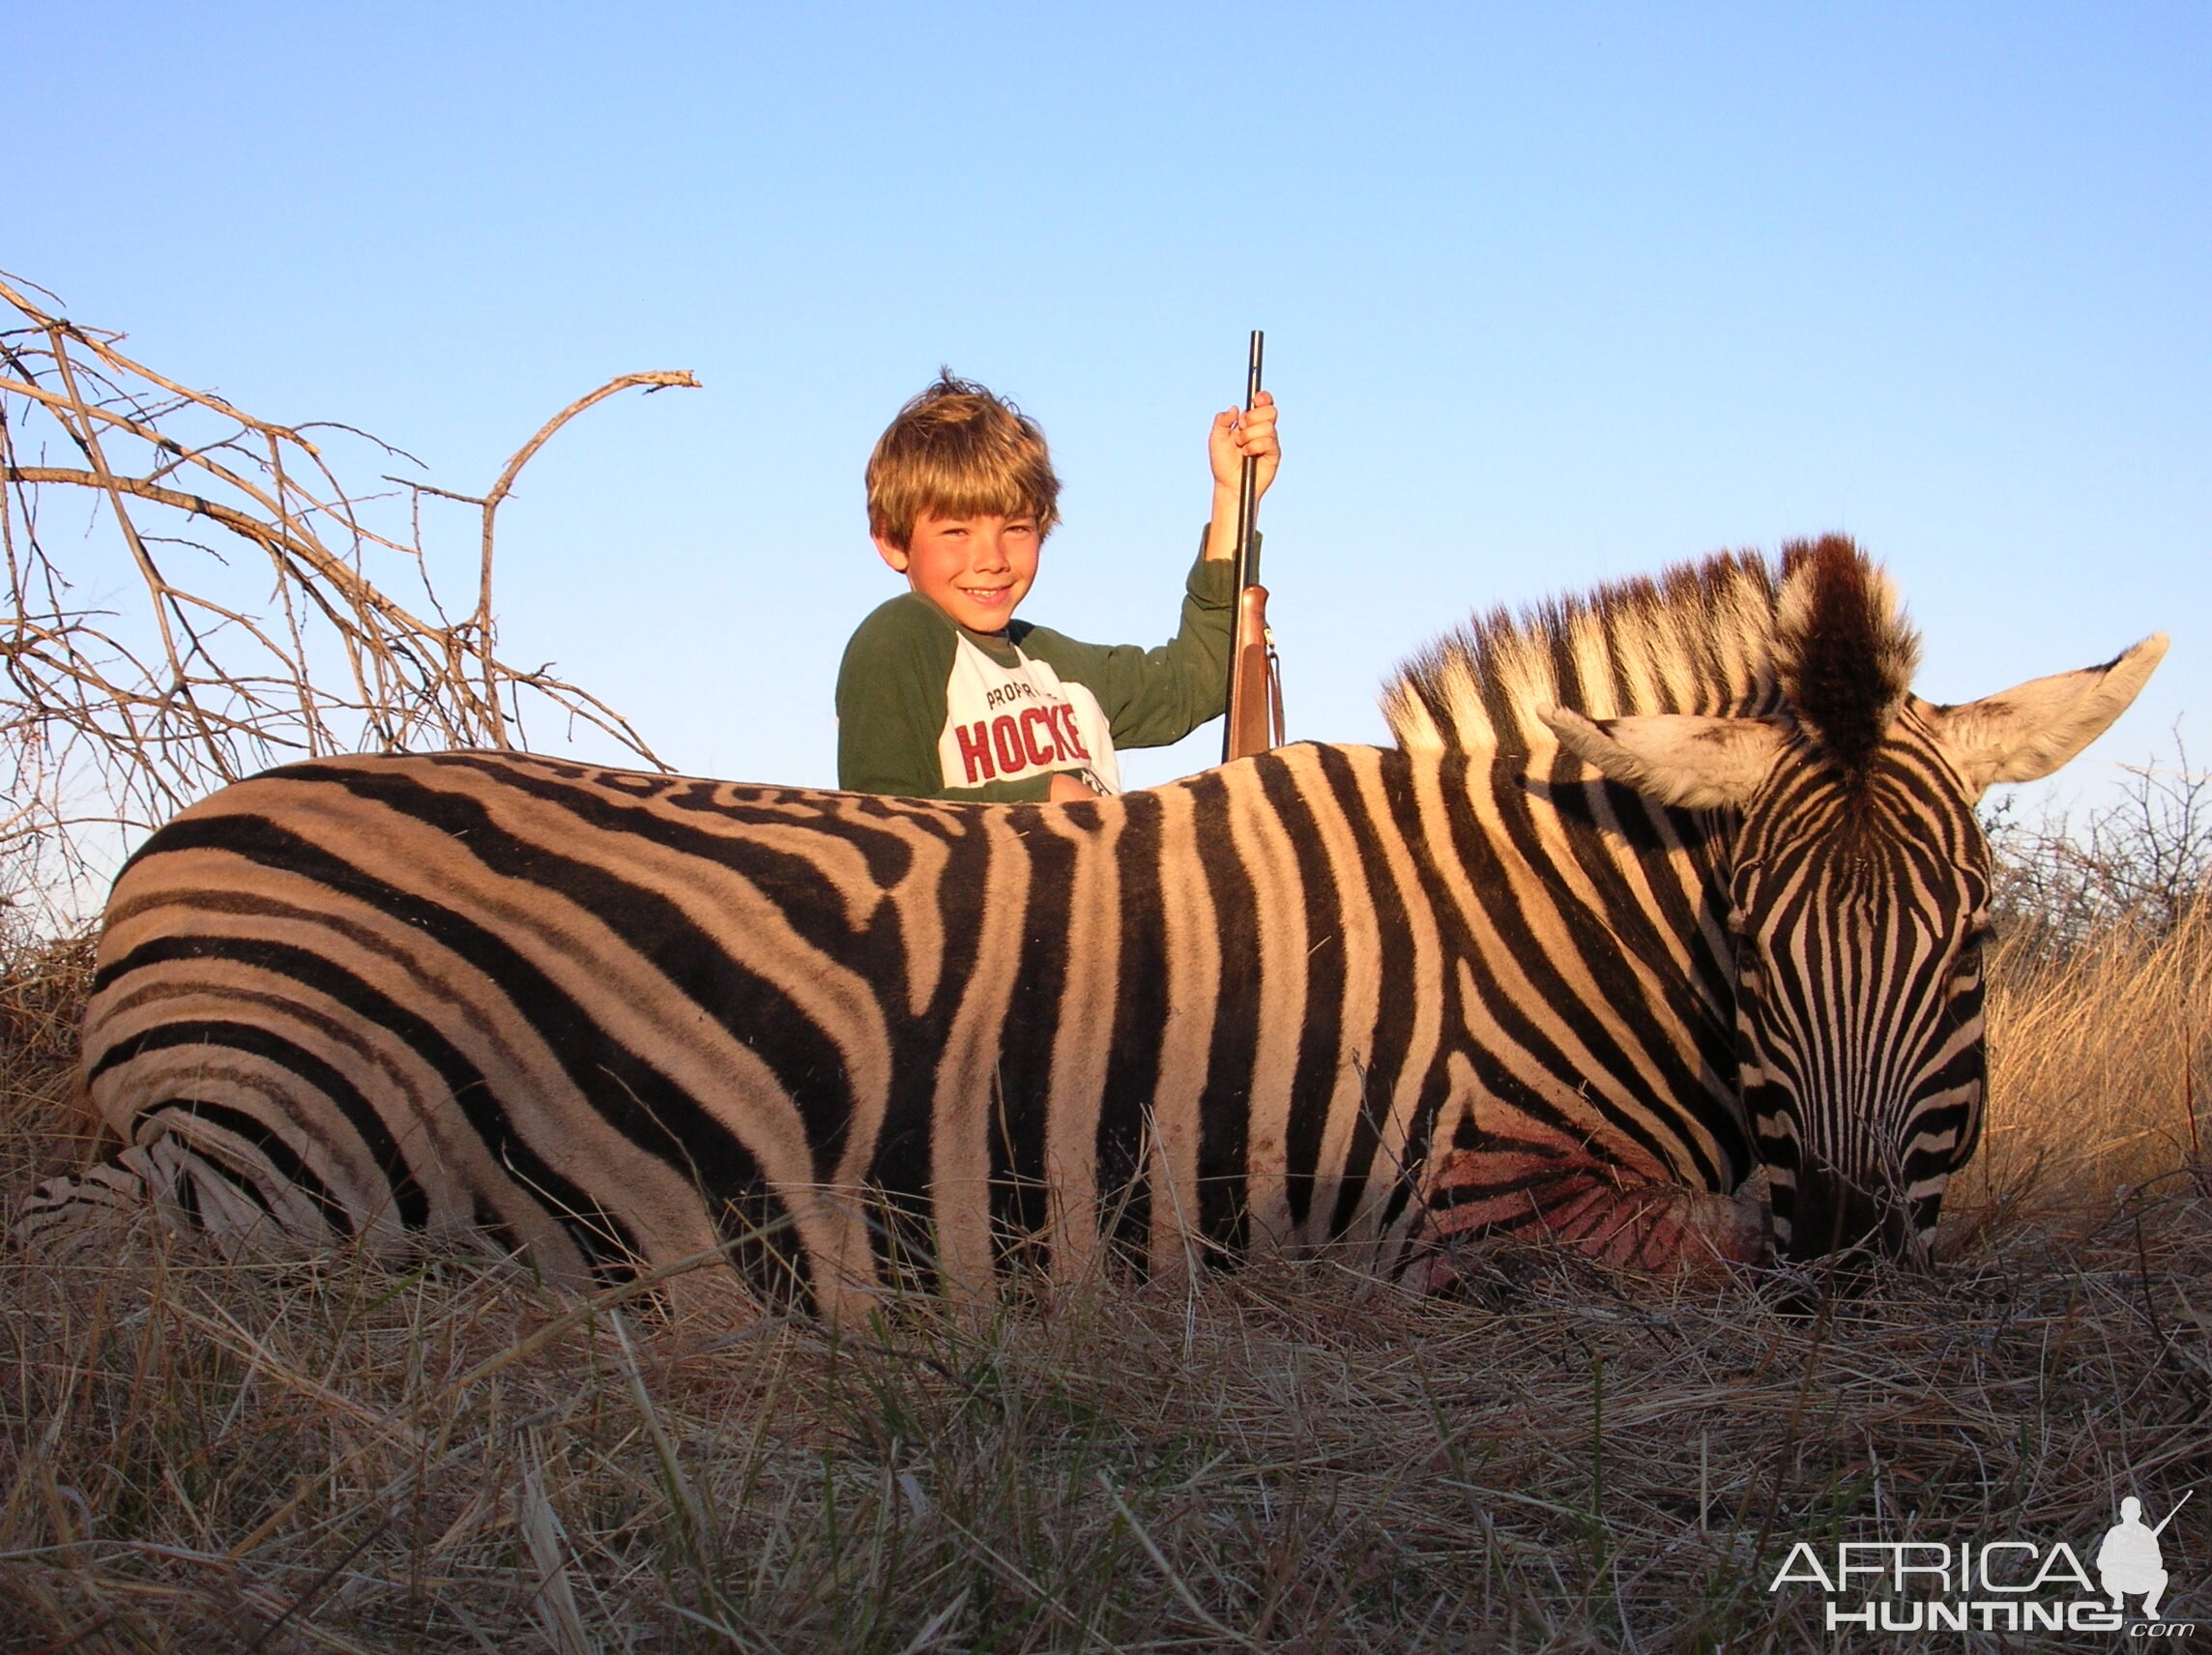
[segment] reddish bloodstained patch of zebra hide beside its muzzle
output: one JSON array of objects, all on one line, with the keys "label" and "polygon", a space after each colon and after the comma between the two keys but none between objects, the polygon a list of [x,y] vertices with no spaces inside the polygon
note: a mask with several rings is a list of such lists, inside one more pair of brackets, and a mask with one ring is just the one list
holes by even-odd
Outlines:
[{"label": "reddish bloodstained patch of zebra hide beside its muzzle", "polygon": [[1422,1292],[1455,1279],[1451,1246],[1473,1239],[1551,1241],[1655,1274],[1759,1263],[1772,1248],[1763,1201],[1690,1188],[1644,1155],[1526,1117],[1511,1135],[1464,1137],[1438,1157],[1425,1193],[1429,1217],[1407,1272]]}]

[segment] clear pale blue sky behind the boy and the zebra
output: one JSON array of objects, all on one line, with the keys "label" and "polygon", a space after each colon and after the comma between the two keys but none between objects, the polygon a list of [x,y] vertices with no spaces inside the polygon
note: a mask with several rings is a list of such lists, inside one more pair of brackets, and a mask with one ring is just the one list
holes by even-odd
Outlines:
[{"label": "clear pale blue sky behind the boy and the zebra", "polygon": [[177,378],[476,491],[599,381],[697,369],[502,513],[509,655],[688,770],[832,781],[898,589],[860,465],[940,363],[1066,478],[1024,613],[1164,637],[1254,325],[1294,735],[1380,739],[1471,608],[1827,529],[1938,699],[2170,631],[2084,783],[2212,710],[2197,0],[15,0],[9,60],[0,268]]}]

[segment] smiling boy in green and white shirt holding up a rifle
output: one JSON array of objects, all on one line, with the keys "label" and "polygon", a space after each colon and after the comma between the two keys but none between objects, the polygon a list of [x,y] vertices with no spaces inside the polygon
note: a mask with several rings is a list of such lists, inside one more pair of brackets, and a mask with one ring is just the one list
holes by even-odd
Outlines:
[{"label": "smiling boy in green and white shirt holding up a rifle", "polygon": [[1259,491],[1274,398],[1214,416],[1214,511],[1172,642],[1082,644],[1013,611],[1060,522],[1044,431],[951,372],[867,460],[867,527],[909,591],[872,613],[836,681],[838,785],[909,799],[1073,801],[1119,792],[1115,746],[1181,741],[1223,712],[1243,458]]}]

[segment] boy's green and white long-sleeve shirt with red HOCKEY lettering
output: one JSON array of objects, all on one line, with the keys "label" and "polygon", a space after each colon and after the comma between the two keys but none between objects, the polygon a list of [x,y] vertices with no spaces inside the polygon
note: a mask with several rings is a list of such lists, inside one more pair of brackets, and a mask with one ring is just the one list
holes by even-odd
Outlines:
[{"label": "boy's green and white long-sleeve shirt with red HOCKEY lettering", "polygon": [[1234,566],[1199,560],[1159,648],[1011,622],[971,633],[918,593],[876,608],[836,679],[836,774],[854,792],[1037,801],[1053,772],[1119,790],[1115,748],[1161,748],[1223,712]]}]

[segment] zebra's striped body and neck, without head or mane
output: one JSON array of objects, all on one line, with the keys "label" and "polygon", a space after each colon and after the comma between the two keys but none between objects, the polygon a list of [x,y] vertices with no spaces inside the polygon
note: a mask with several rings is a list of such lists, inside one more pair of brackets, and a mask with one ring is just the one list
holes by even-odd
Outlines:
[{"label": "zebra's striped body and neck, without head or mane", "polygon": [[[133,1142],[199,1151],[204,1206],[290,1199],[330,1239],[491,1224],[573,1277],[787,1219],[830,1299],[874,1279],[872,1193],[975,1292],[1015,1241],[1055,1274],[1102,1239],[1152,1268],[1332,1239],[1387,1266],[1431,1142],[1495,1100],[1621,1137],[1626,1177],[1732,1188],[1721,936],[1613,945],[1621,905],[1710,909],[1710,870],[1670,847],[1546,889],[1498,861],[1480,779],[1298,746],[1046,808],[290,766],[117,883],[86,1078]],[[1621,989],[1681,1013],[1666,1038],[1575,1016]]]}]

